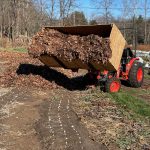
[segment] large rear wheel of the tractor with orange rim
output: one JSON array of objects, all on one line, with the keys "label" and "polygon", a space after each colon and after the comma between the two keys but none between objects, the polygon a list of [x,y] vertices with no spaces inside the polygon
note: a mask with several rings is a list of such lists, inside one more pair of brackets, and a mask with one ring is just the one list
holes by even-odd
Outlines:
[{"label": "large rear wheel of the tractor with orange rim", "polygon": [[129,72],[128,81],[131,87],[141,87],[144,78],[143,64],[134,62]]}]

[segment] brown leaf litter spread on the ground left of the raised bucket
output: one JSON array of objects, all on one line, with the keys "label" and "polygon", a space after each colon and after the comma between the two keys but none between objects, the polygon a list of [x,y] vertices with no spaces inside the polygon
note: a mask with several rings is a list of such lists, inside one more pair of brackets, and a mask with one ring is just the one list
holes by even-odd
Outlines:
[{"label": "brown leaf litter spread on the ground left of the raised bucket", "polygon": [[69,70],[50,69],[38,59],[30,58],[26,53],[0,52],[0,60],[4,62],[0,64],[0,67],[5,67],[5,71],[0,72],[0,86],[2,87],[61,88],[61,84],[58,85],[54,79],[57,78],[59,81],[60,78],[66,77],[67,80],[72,75]]}]

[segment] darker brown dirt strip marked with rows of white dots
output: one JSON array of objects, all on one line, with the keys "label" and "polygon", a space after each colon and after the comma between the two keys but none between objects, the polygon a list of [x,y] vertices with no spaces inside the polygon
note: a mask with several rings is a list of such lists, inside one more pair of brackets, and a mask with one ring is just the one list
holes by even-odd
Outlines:
[{"label": "darker brown dirt strip marked with rows of white dots", "polygon": [[41,119],[36,124],[45,150],[104,150],[89,138],[85,127],[72,109],[73,92],[57,90],[41,107]]}]

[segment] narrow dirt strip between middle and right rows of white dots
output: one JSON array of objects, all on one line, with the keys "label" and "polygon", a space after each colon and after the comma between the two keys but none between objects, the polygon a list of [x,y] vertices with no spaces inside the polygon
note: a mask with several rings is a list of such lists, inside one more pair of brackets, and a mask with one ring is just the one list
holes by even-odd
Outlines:
[{"label": "narrow dirt strip between middle and right rows of white dots", "polygon": [[58,119],[60,128],[64,133],[64,142],[65,142],[64,148],[70,149],[72,143],[74,143],[74,146],[83,149],[82,139],[75,127],[70,109],[71,109],[70,100],[68,99],[68,97],[65,97],[64,99],[63,96],[61,96],[58,105]]}]

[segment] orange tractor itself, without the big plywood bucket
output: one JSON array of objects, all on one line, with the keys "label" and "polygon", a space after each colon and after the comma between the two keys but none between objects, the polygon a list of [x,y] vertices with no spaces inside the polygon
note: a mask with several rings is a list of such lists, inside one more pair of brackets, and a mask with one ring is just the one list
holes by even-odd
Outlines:
[{"label": "orange tractor itself, without the big plywood bucket", "polygon": [[118,92],[121,88],[120,80],[127,81],[131,87],[141,87],[144,78],[143,64],[136,58],[130,48],[123,51],[121,64],[117,71],[89,71],[89,77],[103,85],[106,92]]}]

